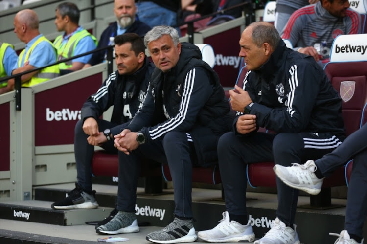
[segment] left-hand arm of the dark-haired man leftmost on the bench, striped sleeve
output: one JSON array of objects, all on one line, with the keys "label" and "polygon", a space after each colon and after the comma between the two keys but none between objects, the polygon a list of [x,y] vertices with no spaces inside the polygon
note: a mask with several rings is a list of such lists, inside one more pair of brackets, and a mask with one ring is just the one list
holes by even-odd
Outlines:
[{"label": "left-hand arm of the dark-haired man leftmost on the bench, striped sleeve", "polygon": [[108,110],[112,105],[114,105],[114,87],[116,82],[117,72],[114,72],[110,74],[109,77],[103,82],[98,91],[87,99],[81,110],[82,121],[89,117],[93,117],[95,120],[97,120],[104,111]]}]

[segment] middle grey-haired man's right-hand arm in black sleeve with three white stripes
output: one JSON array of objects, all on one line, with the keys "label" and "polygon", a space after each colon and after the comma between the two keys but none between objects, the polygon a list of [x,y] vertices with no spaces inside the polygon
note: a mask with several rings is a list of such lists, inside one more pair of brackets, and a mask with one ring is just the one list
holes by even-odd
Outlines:
[{"label": "middle grey-haired man's right-hand arm in black sleeve with three white stripes", "polygon": [[185,80],[178,114],[156,126],[143,128],[141,132],[147,141],[158,139],[170,131],[189,131],[196,123],[213,88],[206,71],[200,67],[190,70]]}]

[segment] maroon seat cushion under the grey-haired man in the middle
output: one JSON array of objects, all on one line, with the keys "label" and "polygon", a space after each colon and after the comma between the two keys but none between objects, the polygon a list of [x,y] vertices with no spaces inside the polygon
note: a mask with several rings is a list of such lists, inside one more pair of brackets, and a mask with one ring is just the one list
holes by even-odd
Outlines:
[{"label": "maroon seat cushion under the grey-haired man in the middle", "polygon": [[[167,164],[163,164],[162,171],[167,181],[172,181],[171,173]],[[212,166],[209,168],[193,167],[192,168],[192,182],[219,184],[222,182],[219,167]]]}]

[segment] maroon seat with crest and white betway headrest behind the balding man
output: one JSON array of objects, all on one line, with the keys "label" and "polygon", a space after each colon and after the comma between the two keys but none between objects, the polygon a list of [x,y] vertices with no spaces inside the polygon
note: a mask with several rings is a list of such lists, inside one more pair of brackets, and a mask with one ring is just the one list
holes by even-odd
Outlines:
[{"label": "maroon seat with crest and white betway headrest behind the balding man", "polygon": [[[359,9],[366,11],[364,5],[358,6]],[[353,90],[353,92],[344,90],[342,95],[343,107],[345,107],[342,111],[344,122],[348,123],[345,125],[347,135],[358,130],[367,121],[367,51],[357,51],[358,49],[356,49],[356,51],[351,52],[349,48],[349,52],[346,52],[346,49],[342,52],[341,47],[346,45],[351,47],[366,46],[366,43],[367,34],[338,36],[331,47],[330,63],[325,66],[325,72],[335,89],[340,92],[344,89],[346,91],[349,89]],[[349,93],[352,93],[350,97]],[[353,117],[354,120],[352,119]],[[345,180],[347,184],[352,167],[353,160],[350,160],[345,166]]]}]

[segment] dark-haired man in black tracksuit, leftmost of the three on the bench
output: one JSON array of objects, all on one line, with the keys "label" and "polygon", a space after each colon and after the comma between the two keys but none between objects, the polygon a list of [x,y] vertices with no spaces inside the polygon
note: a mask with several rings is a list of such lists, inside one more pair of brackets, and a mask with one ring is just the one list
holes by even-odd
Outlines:
[{"label": "dark-haired man in black tracksuit, leftmost of the three on the bench", "polygon": [[[51,205],[53,209],[97,208],[92,191],[94,146],[116,153],[113,136],[129,124],[141,108],[154,65],[144,54],[143,40],[135,33],[115,37],[118,70],[111,73],[96,93],[83,104],[81,119],[75,126],[74,151],[77,169],[76,188],[69,196]],[[111,121],[99,117],[114,106]]]}]

